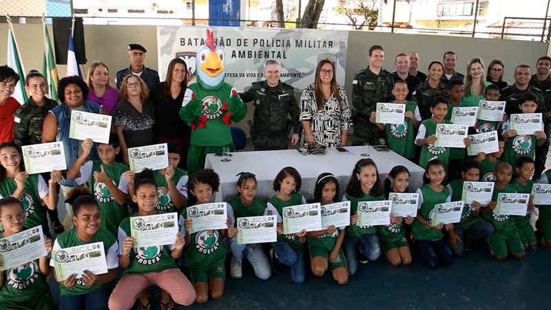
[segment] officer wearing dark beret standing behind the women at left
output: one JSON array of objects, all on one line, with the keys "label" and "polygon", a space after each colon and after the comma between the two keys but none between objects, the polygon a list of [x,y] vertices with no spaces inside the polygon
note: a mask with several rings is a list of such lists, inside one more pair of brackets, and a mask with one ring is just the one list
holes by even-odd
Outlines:
[{"label": "officer wearing dark beret standing behind the women at left", "polygon": [[152,68],[147,68],[145,65],[143,65],[143,61],[145,60],[145,53],[147,53],[147,50],[145,50],[142,45],[128,45],[128,59],[130,59],[130,66],[116,72],[115,83],[116,87],[119,90],[121,89],[121,83],[123,83],[123,79],[128,74],[140,76],[149,90],[152,90],[156,84],[160,83],[159,74],[156,72],[156,70],[153,70]]}]

